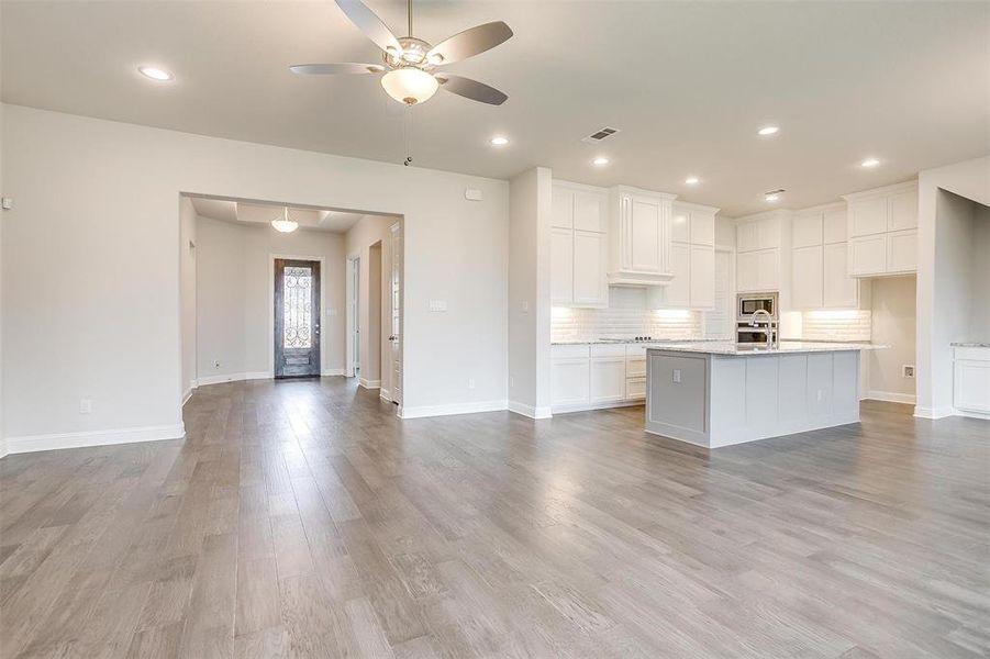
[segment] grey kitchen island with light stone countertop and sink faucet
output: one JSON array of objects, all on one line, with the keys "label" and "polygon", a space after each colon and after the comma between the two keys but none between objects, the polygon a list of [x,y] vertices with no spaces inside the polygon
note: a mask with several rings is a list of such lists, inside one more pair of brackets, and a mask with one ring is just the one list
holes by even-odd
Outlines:
[{"label": "grey kitchen island with light stone countertop and sink faucet", "polygon": [[682,343],[650,347],[646,431],[716,448],[859,421],[870,344]]}]

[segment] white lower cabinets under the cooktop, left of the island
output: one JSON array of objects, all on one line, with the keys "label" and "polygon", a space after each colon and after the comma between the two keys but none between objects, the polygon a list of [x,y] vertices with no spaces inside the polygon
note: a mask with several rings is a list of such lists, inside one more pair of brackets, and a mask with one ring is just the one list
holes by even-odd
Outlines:
[{"label": "white lower cabinets under the cooktop, left of the island", "polygon": [[642,345],[552,346],[550,371],[550,405],[557,413],[635,404],[646,398]]}]

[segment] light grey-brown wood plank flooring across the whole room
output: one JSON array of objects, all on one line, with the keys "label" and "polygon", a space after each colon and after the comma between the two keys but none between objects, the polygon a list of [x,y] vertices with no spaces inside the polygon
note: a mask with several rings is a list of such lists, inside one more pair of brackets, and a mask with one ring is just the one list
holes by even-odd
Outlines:
[{"label": "light grey-brown wood plank flooring across the whole room", "polygon": [[0,460],[0,656],[986,657],[990,423],[910,412],[708,453],[201,388],[186,440]]}]

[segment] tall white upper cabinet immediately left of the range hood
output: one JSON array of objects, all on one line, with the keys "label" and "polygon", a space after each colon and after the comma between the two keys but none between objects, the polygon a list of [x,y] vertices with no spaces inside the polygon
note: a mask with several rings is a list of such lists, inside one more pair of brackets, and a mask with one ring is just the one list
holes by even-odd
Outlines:
[{"label": "tall white upper cabinet immediately left of the range hood", "polygon": [[603,308],[609,304],[608,192],[554,182],[550,228],[550,303]]}]

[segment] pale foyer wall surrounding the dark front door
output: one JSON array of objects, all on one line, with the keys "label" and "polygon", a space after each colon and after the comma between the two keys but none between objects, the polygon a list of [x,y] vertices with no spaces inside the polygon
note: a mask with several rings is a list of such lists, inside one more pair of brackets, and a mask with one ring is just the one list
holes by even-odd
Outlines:
[{"label": "pale foyer wall surrounding the dark front door", "polygon": [[[344,368],[344,236],[197,219],[197,378],[271,377],[275,257],[322,260],[321,372]],[[220,361],[214,368],[213,361]]]}]

